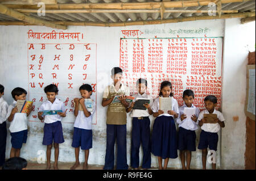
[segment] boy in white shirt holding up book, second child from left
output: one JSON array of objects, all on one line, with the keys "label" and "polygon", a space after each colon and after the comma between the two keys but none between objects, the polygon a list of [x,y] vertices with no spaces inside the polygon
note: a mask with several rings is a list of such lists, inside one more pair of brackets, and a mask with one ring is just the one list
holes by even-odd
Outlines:
[{"label": "boy in white shirt holding up book, second child from left", "polygon": [[10,158],[13,158],[19,157],[22,144],[26,144],[27,142],[27,116],[29,116],[32,111],[32,104],[28,106],[27,113],[17,112],[18,108],[15,106],[17,100],[26,100],[27,91],[20,87],[16,87],[11,91],[11,95],[13,96],[14,101],[13,104],[9,106],[6,117],[7,120],[11,122],[9,127],[11,132]]}]

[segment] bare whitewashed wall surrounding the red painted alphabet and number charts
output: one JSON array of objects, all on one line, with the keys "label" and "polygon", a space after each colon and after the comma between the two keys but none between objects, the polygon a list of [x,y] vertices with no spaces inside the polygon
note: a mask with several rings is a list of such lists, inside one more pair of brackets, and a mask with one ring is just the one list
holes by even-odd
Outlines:
[{"label": "bare whitewashed wall surrounding the red painted alphabet and number charts", "polygon": [[[113,66],[119,66],[119,37],[117,32],[120,30],[154,30],[155,28],[167,30],[172,28],[191,27],[210,27],[212,36],[224,36],[224,57],[222,69],[222,112],[226,119],[226,127],[222,129],[221,141],[218,145],[218,151],[221,151],[222,169],[243,169],[244,168],[244,152],[245,152],[245,114],[243,113],[245,102],[245,81],[247,64],[247,39],[243,37],[251,37],[255,33],[255,24],[253,33],[247,32],[247,24],[241,25],[240,19],[230,20],[200,20],[196,22],[183,22],[151,26],[136,27],[69,27],[69,32],[86,32],[85,41],[89,43],[97,43],[97,62],[102,62],[104,66],[97,63],[97,89],[102,90],[109,82],[100,81],[102,78],[110,77],[110,69]],[[10,104],[11,90],[14,87],[28,86],[27,77],[27,43],[31,43],[27,39],[27,32],[30,29],[35,31],[51,32],[51,28],[36,26],[0,26],[0,83],[5,86],[4,98]],[[4,32],[4,33],[3,33]],[[255,40],[255,36],[250,40]],[[50,42],[50,41],[48,41]],[[40,41],[38,41],[40,43]],[[41,42],[42,43],[42,42]],[[47,41],[45,42],[47,43]],[[105,62],[105,63],[103,63]],[[107,62],[107,63],[106,63]],[[234,99],[236,98],[236,99]],[[90,150],[89,164],[104,165],[105,149],[106,149],[106,124],[105,113],[106,108],[101,106],[102,92],[97,93],[97,125],[93,125],[93,148]],[[233,116],[239,116],[239,120],[234,122]],[[152,117],[151,117],[152,120]],[[151,128],[152,128],[151,122]],[[23,145],[21,157],[30,161],[37,160],[37,151],[46,147],[42,145],[43,123],[28,122],[30,132],[28,134],[27,144]],[[63,124],[65,142],[60,145],[59,161],[74,162],[75,153],[71,147],[72,143],[72,124]],[[127,161],[130,165],[130,136],[131,119],[127,119]],[[199,132],[197,132],[199,139]],[[198,143],[198,140],[197,140]],[[221,143],[221,146],[220,146]],[[10,132],[7,137],[6,157],[10,154]],[[142,152],[142,150],[141,150]],[[218,152],[218,154],[220,154]],[[54,160],[52,154],[51,157]],[[217,159],[219,161],[220,158]],[[80,151],[80,161],[84,160],[84,153]],[[217,163],[219,166],[220,163]],[[152,155],[152,165],[158,166],[157,158]],[[169,166],[180,168],[180,159],[170,159]],[[201,168],[201,151],[197,150],[192,154],[191,168]]]}]

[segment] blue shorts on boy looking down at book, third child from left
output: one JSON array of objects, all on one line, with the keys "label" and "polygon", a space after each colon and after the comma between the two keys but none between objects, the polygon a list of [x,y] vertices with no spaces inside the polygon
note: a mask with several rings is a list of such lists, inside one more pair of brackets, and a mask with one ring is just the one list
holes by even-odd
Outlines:
[{"label": "blue shorts on boy looking down at book, third child from left", "polygon": [[56,144],[61,144],[64,142],[62,125],[60,121],[44,124],[43,145],[51,145],[52,141],[54,141]]}]

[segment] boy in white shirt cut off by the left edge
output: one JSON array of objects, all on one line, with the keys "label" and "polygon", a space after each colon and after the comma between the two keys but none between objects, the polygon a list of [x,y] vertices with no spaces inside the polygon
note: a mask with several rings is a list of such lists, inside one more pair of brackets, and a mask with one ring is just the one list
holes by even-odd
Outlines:
[{"label": "boy in white shirt cut off by the left edge", "polygon": [[8,104],[3,99],[5,87],[0,84],[0,167],[5,163],[5,149],[6,149],[6,115],[8,111]]}]

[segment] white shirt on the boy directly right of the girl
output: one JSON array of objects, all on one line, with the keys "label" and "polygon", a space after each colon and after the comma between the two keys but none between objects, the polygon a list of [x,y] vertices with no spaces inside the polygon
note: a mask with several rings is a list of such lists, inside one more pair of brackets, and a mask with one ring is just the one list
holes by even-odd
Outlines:
[{"label": "white shirt on the boy directly right of the girl", "polygon": [[[187,130],[195,131],[198,128],[198,123],[199,123],[198,119],[197,119],[196,123],[195,123],[195,121],[193,121],[191,119],[191,117],[187,117],[183,121],[181,121],[181,119],[180,119],[181,115],[183,115],[183,113],[184,113],[185,107],[187,107],[187,105],[185,103],[183,104],[183,106],[179,107],[179,116],[176,119],[176,123],[179,124],[179,127],[182,127]],[[195,107],[195,106],[192,104],[191,107]],[[195,107],[195,108],[196,108],[195,115],[196,115],[196,117],[198,117],[200,110],[197,107]]]}]

